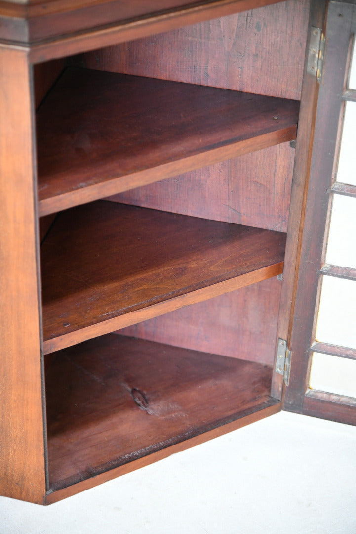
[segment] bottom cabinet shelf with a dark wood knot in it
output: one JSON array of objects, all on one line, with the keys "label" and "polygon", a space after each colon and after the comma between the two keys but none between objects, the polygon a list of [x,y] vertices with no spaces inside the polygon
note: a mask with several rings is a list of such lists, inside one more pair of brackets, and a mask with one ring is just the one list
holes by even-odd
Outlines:
[{"label": "bottom cabinet shelf with a dark wood knot in it", "polygon": [[116,334],[53,353],[50,492],[271,406],[278,411],[271,376],[267,365]]}]

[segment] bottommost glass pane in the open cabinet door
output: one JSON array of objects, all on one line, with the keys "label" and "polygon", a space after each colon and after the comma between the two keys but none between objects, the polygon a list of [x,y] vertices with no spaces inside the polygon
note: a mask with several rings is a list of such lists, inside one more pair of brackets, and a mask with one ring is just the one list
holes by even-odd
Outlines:
[{"label": "bottommost glass pane in the open cabinet door", "polygon": [[314,352],[309,387],[356,397],[356,360]]}]

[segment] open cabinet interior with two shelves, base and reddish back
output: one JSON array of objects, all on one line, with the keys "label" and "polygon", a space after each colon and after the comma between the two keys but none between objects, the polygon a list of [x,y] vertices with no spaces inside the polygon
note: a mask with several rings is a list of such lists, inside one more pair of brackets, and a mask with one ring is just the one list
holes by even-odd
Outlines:
[{"label": "open cabinet interior with two shelves, base and reddish back", "polygon": [[308,14],[35,66],[49,492],[279,410]]}]

